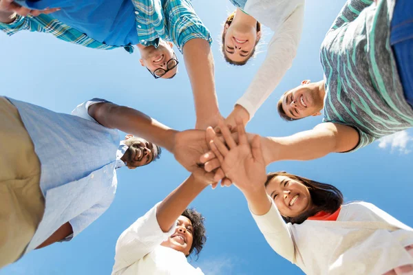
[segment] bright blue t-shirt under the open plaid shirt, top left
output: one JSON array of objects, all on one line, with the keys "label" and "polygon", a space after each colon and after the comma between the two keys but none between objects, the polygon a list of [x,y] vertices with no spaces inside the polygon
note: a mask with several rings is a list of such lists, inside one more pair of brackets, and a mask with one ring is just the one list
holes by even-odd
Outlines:
[{"label": "bright blue t-shirt under the open plaid shirt, top left", "polygon": [[50,14],[96,41],[112,46],[136,45],[134,5],[131,0],[18,0],[33,9],[61,8]]}]

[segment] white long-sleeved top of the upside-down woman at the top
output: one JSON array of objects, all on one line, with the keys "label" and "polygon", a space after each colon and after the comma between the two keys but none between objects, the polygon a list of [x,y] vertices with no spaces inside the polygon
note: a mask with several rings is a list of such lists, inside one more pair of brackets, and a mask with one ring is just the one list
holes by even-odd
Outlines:
[{"label": "white long-sleeved top of the upside-down woman at the top", "polygon": [[304,0],[248,0],[244,11],[274,32],[266,58],[242,98],[250,118],[293,65],[304,22]]}]

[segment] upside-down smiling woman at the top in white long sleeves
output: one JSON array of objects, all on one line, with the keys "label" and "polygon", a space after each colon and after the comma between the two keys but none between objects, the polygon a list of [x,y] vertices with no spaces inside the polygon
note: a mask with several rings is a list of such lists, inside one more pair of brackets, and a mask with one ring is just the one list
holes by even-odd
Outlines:
[{"label": "upside-down smiling woman at the top in white long sleeves", "polygon": [[225,21],[222,52],[232,65],[245,65],[262,38],[262,26],[274,34],[268,41],[266,58],[237,100],[226,124],[235,126],[235,117],[244,124],[251,120],[293,65],[304,21],[304,0],[231,0],[237,7]]}]

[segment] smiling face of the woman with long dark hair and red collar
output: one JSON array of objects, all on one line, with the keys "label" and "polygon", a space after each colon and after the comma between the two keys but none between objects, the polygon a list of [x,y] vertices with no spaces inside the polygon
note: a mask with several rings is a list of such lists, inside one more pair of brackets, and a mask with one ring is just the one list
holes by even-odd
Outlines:
[{"label": "smiling face of the woman with long dark hair and red collar", "polygon": [[284,217],[297,217],[313,207],[307,186],[290,177],[273,177],[266,185],[266,192]]}]

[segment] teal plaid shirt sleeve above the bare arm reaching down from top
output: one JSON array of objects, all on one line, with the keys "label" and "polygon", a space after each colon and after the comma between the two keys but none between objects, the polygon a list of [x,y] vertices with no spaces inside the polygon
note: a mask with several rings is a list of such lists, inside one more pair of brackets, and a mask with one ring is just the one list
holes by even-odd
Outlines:
[{"label": "teal plaid shirt sleeve above the bare arm reaching down from top", "polygon": [[166,12],[168,13],[169,34],[181,53],[185,43],[191,39],[204,39],[211,45],[211,34],[195,13],[191,1],[167,1]]}]

